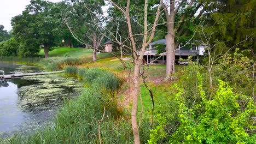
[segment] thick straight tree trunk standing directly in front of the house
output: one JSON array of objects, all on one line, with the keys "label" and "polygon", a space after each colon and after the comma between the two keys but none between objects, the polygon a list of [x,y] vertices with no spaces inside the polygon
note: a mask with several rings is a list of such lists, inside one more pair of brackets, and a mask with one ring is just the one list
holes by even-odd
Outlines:
[{"label": "thick straight tree trunk standing directly in front of the house", "polygon": [[165,16],[167,19],[167,35],[166,39],[166,79],[172,78],[172,73],[174,73],[174,62],[175,62],[175,32],[174,32],[174,17],[175,17],[175,7],[174,0],[170,1],[170,14],[168,9],[165,8]]}]

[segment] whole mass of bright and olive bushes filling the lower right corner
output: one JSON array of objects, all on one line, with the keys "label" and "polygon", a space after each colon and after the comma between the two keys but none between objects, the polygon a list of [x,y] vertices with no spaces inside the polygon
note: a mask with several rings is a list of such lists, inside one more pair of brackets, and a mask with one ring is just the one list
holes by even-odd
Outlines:
[{"label": "whole mass of bright and olive bushes filling the lower right corner", "polygon": [[166,123],[155,125],[149,142],[255,143],[253,67],[248,58],[233,55],[213,65],[212,88],[207,65],[190,63],[174,74],[166,105],[156,110]]}]

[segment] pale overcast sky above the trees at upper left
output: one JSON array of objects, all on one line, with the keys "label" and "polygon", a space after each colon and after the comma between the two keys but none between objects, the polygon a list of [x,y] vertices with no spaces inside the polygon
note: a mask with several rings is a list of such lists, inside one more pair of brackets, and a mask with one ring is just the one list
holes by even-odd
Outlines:
[{"label": "pale overcast sky above the trees at upper left", "polygon": [[[50,2],[60,2],[61,0],[49,0]],[[7,31],[11,30],[11,17],[19,15],[30,4],[30,0],[0,0],[0,25]]]}]

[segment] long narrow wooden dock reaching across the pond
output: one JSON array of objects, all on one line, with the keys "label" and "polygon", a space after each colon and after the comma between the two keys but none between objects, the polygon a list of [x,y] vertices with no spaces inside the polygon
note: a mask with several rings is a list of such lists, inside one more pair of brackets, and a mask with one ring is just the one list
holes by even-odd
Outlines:
[{"label": "long narrow wooden dock reaching across the pond", "polygon": [[23,76],[31,76],[31,75],[47,75],[47,74],[57,74],[57,73],[63,73],[64,70],[61,71],[51,71],[51,72],[41,72],[41,73],[27,73],[27,74],[10,74],[10,75],[0,75],[0,79],[11,79],[14,77],[23,77]]}]

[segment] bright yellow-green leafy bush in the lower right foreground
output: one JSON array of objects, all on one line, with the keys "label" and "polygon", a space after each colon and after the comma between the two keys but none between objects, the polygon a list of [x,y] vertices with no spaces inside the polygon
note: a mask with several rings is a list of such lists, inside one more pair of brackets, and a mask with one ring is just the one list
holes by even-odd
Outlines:
[{"label": "bright yellow-green leafy bush in the lower right foreground", "polygon": [[191,108],[185,105],[184,89],[174,85],[178,90],[176,101],[181,124],[170,142],[253,143],[255,135],[246,132],[247,126],[253,124],[251,117],[256,112],[253,99],[242,111],[243,105],[237,102],[239,95],[234,94],[226,82],[219,80],[218,90],[207,98],[200,73],[197,73],[197,79],[197,94],[201,101]]}]

